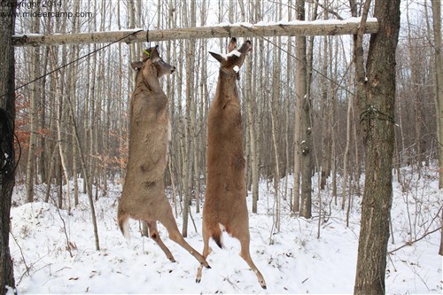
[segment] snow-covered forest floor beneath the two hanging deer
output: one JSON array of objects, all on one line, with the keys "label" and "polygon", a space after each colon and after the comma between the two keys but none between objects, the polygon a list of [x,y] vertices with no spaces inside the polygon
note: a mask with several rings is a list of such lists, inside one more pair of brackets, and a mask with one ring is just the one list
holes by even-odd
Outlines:
[{"label": "snow-covered forest floor beneath the two hanging deer", "polygon": [[[392,238],[389,250],[423,237],[439,227],[443,205],[435,167],[418,179],[409,169],[394,175]],[[290,177],[291,182],[291,177]],[[313,178],[316,185],[316,176]],[[283,182],[282,182],[283,185]],[[265,276],[268,290],[262,290],[256,276],[238,252],[237,240],[224,236],[226,249],[211,242],[211,269],[203,269],[201,283],[195,283],[198,261],[167,237],[160,235],[177,262],[167,260],[151,239],[140,237],[137,221],[130,222],[128,242],[116,223],[120,185],[110,184],[107,197],[95,203],[100,251],[95,250],[88,198],[71,213],[43,202],[24,204],[26,190],[17,185],[13,195],[11,252],[19,293],[352,293],[360,222],[361,197],[354,197],[349,227],[346,211],[331,205],[330,183],[321,196],[328,214],[322,217],[320,237],[318,190],[313,197],[312,220],[291,216],[289,202],[282,201],[281,231],[273,234],[275,206],[272,184],[260,183],[259,213],[250,213],[251,254]],[[71,185],[71,188],[73,186]],[[290,183],[291,187],[291,183]],[[37,187],[43,200],[44,187]],[[338,188],[338,191],[341,191]],[[248,197],[251,205],[252,197]],[[201,252],[201,213],[192,216],[186,240]],[[182,217],[176,218],[181,229]],[[439,231],[413,245],[393,252],[387,259],[386,292],[390,294],[442,293],[442,258]],[[272,240],[272,243],[269,243]],[[68,250],[69,248],[69,250]]]}]

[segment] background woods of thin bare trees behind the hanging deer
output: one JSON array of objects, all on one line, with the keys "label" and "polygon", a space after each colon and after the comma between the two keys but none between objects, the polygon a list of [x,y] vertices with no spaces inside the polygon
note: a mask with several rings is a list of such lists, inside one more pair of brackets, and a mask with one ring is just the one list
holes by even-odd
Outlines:
[{"label": "background woods of thin bare trees behind the hanging deer", "polygon": [[[289,22],[299,19],[297,4],[303,2],[64,0],[46,7],[18,7],[17,12],[36,14],[18,14],[15,34],[140,28],[148,30],[145,37],[149,39],[149,32],[156,30]],[[259,182],[268,182],[272,188],[276,205],[268,206],[266,213],[275,216],[274,233],[280,230],[284,206],[290,208],[292,218],[313,216],[321,221],[330,213],[328,206],[347,212],[360,206],[356,196],[363,195],[361,178],[371,160],[365,153],[368,118],[383,117],[393,124],[392,163],[388,165],[405,191],[411,184],[401,168],[409,167],[421,176],[439,167],[442,66],[437,53],[441,37],[432,18],[437,9],[432,1],[402,3],[393,117],[359,100],[359,83],[365,83],[366,77],[356,72],[355,63],[366,66],[369,35],[361,39],[361,60],[354,58],[352,35],[306,36],[304,50],[298,47],[300,37],[251,37],[252,57],[246,58],[238,85],[245,129],[245,180],[252,193],[253,213],[265,213],[256,206],[257,200],[265,198],[259,193]],[[354,1],[303,5],[306,20],[347,19],[364,12],[363,3]],[[73,12],[75,17],[39,17],[43,12]],[[373,16],[374,7],[369,6],[368,17]],[[177,68],[175,75],[162,82],[173,130],[165,184],[175,215],[183,216],[184,237],[194,226],[191,217],[201,209],[206,190],[207,114],[218,71],[207,51],[225,51],[229,42],[229,38],[190,37],[194,39],[159,43],[163,58]],[[243,41],[243,36],[237,37]],[[147,47],[148,43],[16,47],[15,83],[16,87],[25,85],[16,90],[15,124],[21,145],[16,180],[26,184],[24,200],[50,202],[70,211],[83,192],[93,205],[109,196],[109,183],[121,182],[128,159],[128,105],[135,80],[129,62],[141,58]],[[303,52],[304,57],[299,55]],[[300,65],[306,66],[302,73]],[[303,82],[306,91],[300,95]],[[300,159],[306,157],[309,161]],[[311,183],[309,178],[307,182],[309,175],[318,181]],[[305,188],[303,180],[308,183]],[[306,199],[312,199],[309,206],[303,203]],[[410,240],[418,238],[412,237],[412,223]],[[267,242],[272,244],[272,235]]]}]

